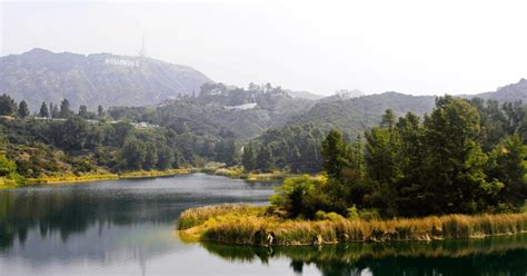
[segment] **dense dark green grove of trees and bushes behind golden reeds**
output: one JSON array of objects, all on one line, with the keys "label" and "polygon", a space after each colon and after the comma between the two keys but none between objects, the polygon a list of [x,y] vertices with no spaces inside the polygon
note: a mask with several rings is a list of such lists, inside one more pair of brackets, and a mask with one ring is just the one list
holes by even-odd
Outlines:
[{"label": "dense dark green grove of trees and bushes behind golden reeds", "polygon": [[318,210],[384,217],[517,211],[527,199],[527,109],[450,96],[419,118],[387,110],[355,142],[331,130],[321,142],[327,178],[287,180],[275,206],[291,217]]}]

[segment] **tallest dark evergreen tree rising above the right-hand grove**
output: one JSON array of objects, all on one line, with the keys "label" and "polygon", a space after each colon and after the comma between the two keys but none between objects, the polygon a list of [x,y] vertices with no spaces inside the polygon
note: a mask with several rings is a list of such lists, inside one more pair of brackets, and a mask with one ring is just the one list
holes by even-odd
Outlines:
[{"label": "tallest dark evergreen tree rising above the right-hand grove", "polygon": [[495,185],[485,180],[487,160],[478,142],[479,114],[466,100],[438,98],[425,118],[425,164],[428,214],[471,214],[479,209],[477,196]]}]

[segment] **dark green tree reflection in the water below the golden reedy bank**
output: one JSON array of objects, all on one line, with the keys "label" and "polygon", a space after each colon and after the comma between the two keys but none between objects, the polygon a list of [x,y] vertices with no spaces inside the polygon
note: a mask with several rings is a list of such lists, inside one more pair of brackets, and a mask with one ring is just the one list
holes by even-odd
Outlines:
[{"label": "dark green tree reflection in the water below the golden reedy bank", "polygon": [[348,244],[301,247],[240,247],[201,244],[231,263],[287,258],[301,275],[315,265],[321,275],[527,275],[527,235],[478,240]]}]

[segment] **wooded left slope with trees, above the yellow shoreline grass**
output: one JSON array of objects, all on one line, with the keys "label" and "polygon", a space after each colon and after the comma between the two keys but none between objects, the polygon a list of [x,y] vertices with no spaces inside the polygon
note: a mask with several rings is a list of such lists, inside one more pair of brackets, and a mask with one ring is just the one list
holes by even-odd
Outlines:
[{"label": "wooded left slope with trees, above the yellow shoreline grass", "polygon": [[135,127],[127,121],[116,121],[102,107],[97,114],[86,106],[73,112],[68,99],[59,105],[42,102],[39,112],[30,116],[24,102],[17,103],[7,95],[0,96],[0,116],[7,116],[0,124],[0,152],[6,158],[0,162],[0,169],[6,171],[0,177],[13,176],[13,170],[24,177],[39,177],[100,169],[166,170],[201,166],[207,161],[232,166],[239,160],[239,146],[228,131],[220,132],[220,137],[202,136],[191,131],[185,122]]}]

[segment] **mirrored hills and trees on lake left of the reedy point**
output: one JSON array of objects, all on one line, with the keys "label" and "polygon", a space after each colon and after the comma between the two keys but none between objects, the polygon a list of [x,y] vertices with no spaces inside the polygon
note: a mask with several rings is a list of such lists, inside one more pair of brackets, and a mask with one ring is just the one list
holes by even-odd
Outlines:
[{"label": "mirrored hills and trees on lake left of the reedy point", "polygon": [[271,184],[207,175],[0,190],[1,259],[99,265],[182,250],[179,214],[192,206],[267,200]]}]

